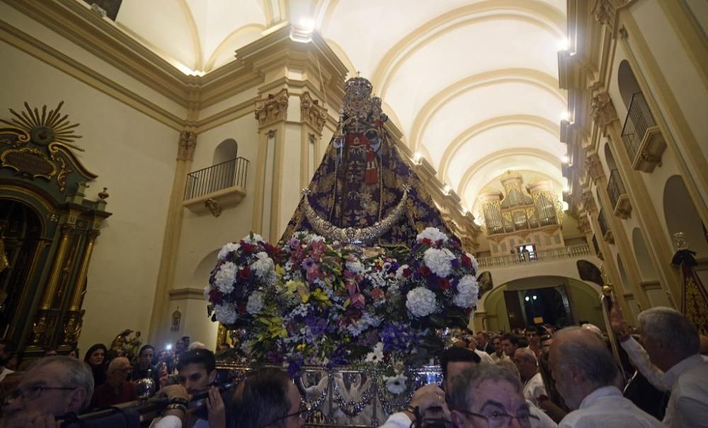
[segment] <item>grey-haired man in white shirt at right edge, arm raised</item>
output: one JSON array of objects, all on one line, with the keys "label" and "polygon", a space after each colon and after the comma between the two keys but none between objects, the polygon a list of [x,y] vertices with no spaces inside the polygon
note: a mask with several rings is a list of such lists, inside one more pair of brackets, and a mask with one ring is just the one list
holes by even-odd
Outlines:
[{"label": "grey-haired man in white shirt at right edge, arm raised", "polygon": [[612,329],[632,364],[659,391],[670,391],[663,424],[708,427],[708,359],[700,352],[695,326],[678,311],[656,307],[637,317],[641,347],[627,334],[619,305]]}]

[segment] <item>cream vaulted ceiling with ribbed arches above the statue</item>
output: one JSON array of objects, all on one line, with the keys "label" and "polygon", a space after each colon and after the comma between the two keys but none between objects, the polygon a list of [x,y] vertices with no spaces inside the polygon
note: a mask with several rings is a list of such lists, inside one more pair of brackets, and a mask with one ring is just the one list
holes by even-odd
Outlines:
[{"label": "cream vaulted ceiling with ribbed arches above the statue", "polygon": [[116,23],[187,74],[284,23],[314,27],[469,209],[508,169],[564,187],[566,0],[123,0]]}]

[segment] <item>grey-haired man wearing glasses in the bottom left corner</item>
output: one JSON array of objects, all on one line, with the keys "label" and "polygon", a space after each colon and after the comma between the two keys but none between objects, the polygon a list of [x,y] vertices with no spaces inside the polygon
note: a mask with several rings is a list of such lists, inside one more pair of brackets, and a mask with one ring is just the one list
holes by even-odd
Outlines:
[{"label": "grey-haired man wearing glasses in the bottom left corner", "polygon": [[55,417],[88,407],[92,394],[86,363],[62,356],[40,359],[6,399],[3,427],[57,427]]}]

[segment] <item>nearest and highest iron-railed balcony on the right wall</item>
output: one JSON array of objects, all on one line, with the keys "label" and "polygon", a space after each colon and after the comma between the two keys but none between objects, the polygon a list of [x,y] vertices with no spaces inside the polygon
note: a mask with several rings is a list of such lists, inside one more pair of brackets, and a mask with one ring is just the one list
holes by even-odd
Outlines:
[{"label": "nearest and highest iron-railed balcony on the right wall", "polygon": [[622,142],[635,170],[651,173],[657,165],[661,166],[666,141],[641,92],[632,95],[627,119],[622,127]]}]

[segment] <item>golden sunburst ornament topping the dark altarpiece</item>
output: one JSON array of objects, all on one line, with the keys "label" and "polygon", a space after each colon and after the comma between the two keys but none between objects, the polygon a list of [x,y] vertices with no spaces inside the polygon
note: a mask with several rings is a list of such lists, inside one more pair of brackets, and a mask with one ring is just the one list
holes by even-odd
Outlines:
[{"label": "golden sunburst ornament topping the dark altarpiece", "polygon": [[38,108],[34,110],[25,102],[25,110],[16,112],[10,109],[14,116],[10,121],[0,119],[7,125],[18,127],[30,134],[30,139],[39,146],[48,146],[56,143],[70,147],[74,150],[84,151],[81,147],[72,144],[75,139],[81,138],[81,135],[74,134],[74,129],[79,126],[78,123],[69,123],[69,115],[63,115],[59,112],[64,105],[64,101],[59,102],[57,108],[47,112],[47,106],[42,107],[42,112]]}]

